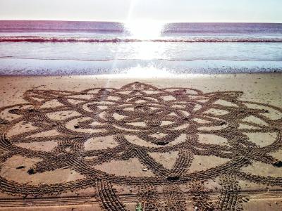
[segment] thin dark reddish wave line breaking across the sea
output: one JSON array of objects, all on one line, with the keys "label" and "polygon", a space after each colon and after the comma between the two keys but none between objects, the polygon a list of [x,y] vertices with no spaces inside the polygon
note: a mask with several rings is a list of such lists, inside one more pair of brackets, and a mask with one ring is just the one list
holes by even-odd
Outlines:
[{"label": "thin dark reddish wave line breaking across the sea", "polygon": [[0,37],[0,42],[282,42],[282,38],[260,38],[260,37],[190,37],[185,39],[130,39],[130,38],[114,38],[114,39],[93,39],[82,37],[36,37],[36,36],[16,36],[16,37]]}]

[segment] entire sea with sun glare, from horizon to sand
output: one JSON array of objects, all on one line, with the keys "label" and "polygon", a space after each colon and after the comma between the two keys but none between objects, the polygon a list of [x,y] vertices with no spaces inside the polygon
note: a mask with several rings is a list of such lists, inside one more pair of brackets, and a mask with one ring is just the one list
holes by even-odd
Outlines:
[{"label": "entire sea with sun glare, from horizon to sand", "polygon": [[282,24],[0,21],[0,75],[282,72]]}]

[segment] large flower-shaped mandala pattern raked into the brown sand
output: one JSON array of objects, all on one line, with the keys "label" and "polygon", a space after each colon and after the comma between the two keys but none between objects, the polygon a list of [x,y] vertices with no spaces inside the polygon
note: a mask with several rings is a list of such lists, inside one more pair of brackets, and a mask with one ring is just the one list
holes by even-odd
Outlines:
[{"label": "large flower-shaped mandala pattern raked into the brown sand", "polygon": [[[137,190],[139,210],[185,210],[187,198],[195,209],[240,210],[238,179],[282,186],[282,177],[245,171],[255,162],[281,168],[273,153],[282,148],[282,110],[240,101],[242,94],[140,82],[121,89],[26,91],[27,103],[0,110],[0,191],[36,197],[94,187],[103,209],[126,210],[118,185]],[[21,163],[14,172],[23,174],[18,181],[4,171],[15,160]],[[209,160],[214,165],[203,167]],[[68,170],[73,179],[48,183],[42,176]],[[216,201],[205,186],[209,179],[221,185]]]}]

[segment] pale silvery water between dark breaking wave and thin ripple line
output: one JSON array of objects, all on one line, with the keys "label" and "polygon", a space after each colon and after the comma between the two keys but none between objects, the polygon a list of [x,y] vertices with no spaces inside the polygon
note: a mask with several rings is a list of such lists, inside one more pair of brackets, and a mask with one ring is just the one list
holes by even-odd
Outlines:
[{"label": "pale silvery water between dark breaking wave and thin ripple line", "polygon": [[0,58],[282,61],[281,43],[0,42]]}]

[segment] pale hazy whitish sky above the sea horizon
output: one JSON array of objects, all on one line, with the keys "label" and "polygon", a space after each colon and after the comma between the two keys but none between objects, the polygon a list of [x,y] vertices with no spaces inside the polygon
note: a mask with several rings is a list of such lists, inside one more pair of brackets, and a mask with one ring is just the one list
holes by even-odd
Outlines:
[{"label": "pale hazy whitish sky above the sea horizon", "polygon": [[282,23],[282,0],[0,0],[0,20]]}]

